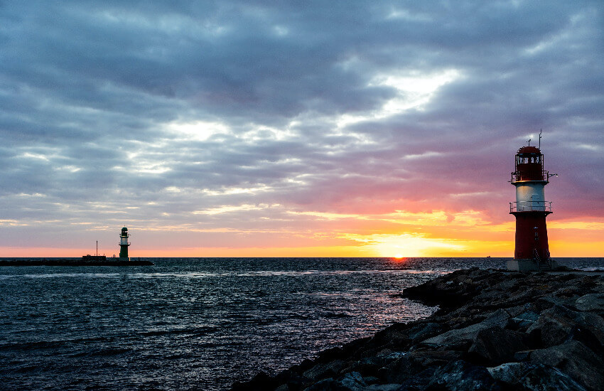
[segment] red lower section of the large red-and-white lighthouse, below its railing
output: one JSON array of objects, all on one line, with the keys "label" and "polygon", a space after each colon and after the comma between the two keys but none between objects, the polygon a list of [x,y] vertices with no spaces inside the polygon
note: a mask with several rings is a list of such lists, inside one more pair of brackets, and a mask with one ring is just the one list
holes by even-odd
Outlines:
[{"label": "red lower section of the large red-and-white lighthouse, below its railing", "polygon": [[549,259],[545,218],[551,212],[512,212],[516,216],[516,250],[514,259]]}]

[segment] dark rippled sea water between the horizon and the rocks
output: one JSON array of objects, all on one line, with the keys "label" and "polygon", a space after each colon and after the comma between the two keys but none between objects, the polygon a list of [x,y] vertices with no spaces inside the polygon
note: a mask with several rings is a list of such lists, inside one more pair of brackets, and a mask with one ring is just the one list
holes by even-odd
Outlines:
[{"label": "dark rippled sea water between the horizon and the rocks", "polygon": [[0,389],[225,390],[429,316],[401,291],[506,260],[147,259],[155,265],[1,267]]}]

